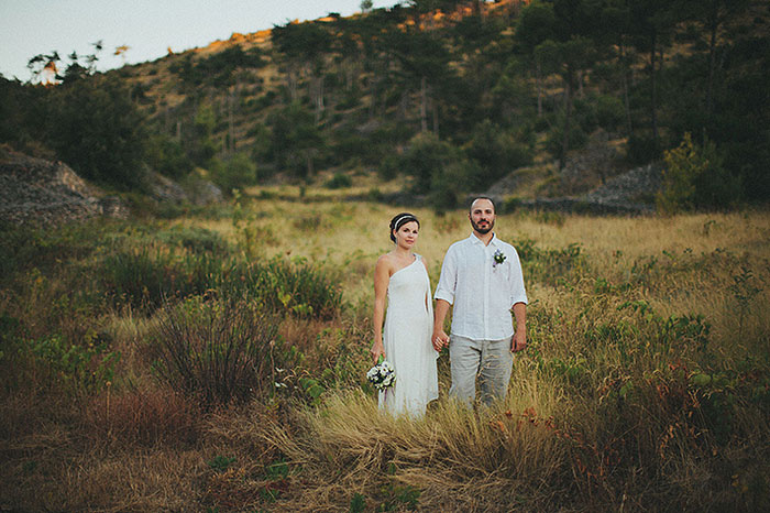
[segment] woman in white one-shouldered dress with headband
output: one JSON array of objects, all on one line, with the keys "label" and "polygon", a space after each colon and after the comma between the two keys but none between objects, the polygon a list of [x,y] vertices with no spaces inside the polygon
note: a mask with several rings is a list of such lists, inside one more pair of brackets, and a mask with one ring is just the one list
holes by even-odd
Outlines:
[{"label": "woman in white one-shouldered dress with headband", "polygon": [[428,403],[439,396],[438,352],[430,342],[433,329],[430,280],[425,260],[413,253],[419,229],[420,221],[411,214],[394,217],[391,240],[396,247],[380,256],[374,269],[372,357],[376,363],[383,356],[396,371],[394,384],[380,392],[380,408],[413,417],[422,416]]}]

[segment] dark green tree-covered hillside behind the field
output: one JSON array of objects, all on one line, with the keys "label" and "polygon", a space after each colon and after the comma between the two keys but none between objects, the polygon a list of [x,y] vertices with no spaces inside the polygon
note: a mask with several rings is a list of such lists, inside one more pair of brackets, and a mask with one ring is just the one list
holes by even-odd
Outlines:
[{"label": "dark green tree-covered hillside behind the field", "polygon": [[671,166],[686,140],[703,162],[667,177],[696,189],[673,204],[762,201],[769,14],[756,0],[411,0],[275,26],[267,48],[166,57],[153,95],[141,66],[99,75],[70,56],[56,87],[2,80],[0,137],[123,187],[139,162],[226,187],[369,167],[451,206],[538,155],[561,168],[603,130],[627,141],[626,166]]}]

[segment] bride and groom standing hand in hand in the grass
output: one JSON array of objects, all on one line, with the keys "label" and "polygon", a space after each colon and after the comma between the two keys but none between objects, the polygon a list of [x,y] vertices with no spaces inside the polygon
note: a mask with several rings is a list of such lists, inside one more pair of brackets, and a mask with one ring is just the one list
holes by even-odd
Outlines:
[{"label": "bride and groom standing hand in hand in the grass", "polygon": [[[521,265],[514,247],[495,237],[492,199],[474,199],[469,219],[471,236],[450,245],[444,256],[436,312],[427,264],[413,252],[420,222],[406,212],[391,221],[395,248],[377,260],[374,271],[372,356],[375,362],[386,357],[395,369],[394,385],[380,392],[380,407],[394,415],[420,417],[438,399],[436,359],[442,348],[449,347],[450,396],[471,405],[479,376],[481,400],[488,405],[505,397],[513,353],[527,346]],[[443,325],[450,307],[448,336]]]}]

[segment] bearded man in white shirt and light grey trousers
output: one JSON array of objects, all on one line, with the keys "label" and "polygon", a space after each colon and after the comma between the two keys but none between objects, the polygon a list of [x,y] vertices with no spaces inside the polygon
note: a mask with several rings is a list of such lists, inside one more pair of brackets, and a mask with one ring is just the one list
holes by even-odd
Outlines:
[{"label": "bearded man in white shirt and light grey trousers", "polygon": [[[492,231],[495,227],[492,199],[477,197],[468,217],[473,232],[449,247],[441,268],[435,294],[432,342],[437,351],[449,345],[452,368],[449,394],[472,404],[479,375],[481,400],[490,405],[495,399],[505,399],[513,353],[527,347],[527,293],[516,250]],[[443,321],[451,305],[454,305],[452,336],[448,337]]]}]

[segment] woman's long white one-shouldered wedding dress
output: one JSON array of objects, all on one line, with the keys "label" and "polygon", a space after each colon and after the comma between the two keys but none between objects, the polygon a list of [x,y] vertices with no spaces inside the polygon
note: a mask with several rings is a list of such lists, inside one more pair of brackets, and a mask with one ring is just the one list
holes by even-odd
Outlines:
[{"label": "woman's long white one-shouldered wedding dress", "polygon": [[430,343],[433,306],[430,280],[420,255],[391,276],[383,328],[385,359],[396,371],[393,386],[380,392],[380,408],[394,415],[420,417],[439,396],[436,359]]}]

